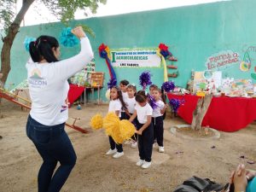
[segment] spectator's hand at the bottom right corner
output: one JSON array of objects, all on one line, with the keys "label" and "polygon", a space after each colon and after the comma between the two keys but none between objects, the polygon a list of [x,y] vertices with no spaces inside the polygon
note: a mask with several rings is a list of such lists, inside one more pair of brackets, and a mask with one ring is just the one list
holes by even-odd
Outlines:
[{"label": "spectator's hand at the bottom right corner", "polygon": [[236,171],[233,174],[233,183],[235,186],[235,192],[246,191],[247,188],[247,177],[246,169],[243,164],[236,167]]}]

